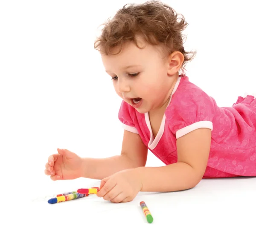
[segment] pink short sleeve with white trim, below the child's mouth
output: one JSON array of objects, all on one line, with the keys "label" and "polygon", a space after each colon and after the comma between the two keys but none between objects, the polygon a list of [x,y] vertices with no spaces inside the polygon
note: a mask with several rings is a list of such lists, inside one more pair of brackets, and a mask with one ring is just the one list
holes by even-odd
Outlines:
[{"label": "pink short sleeve with white trim, below the child's mouth", "polygon": [[137,131],[137,128],[134,125],[134,117],[135,117],[134,108],[131,105],[129,105],[127,102],[122,100],[119,113],[118,113],[118,119],[122,122],[122,126],[125,130],[139,134]]}]

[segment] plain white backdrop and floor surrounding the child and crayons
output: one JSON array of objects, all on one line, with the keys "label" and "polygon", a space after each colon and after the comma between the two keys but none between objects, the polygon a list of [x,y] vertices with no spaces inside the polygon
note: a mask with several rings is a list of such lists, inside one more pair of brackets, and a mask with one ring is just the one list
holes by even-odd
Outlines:
[{"label": "plain white backdrop and floor surrounding the child and crayons", "polygon": [[[184,31],[185,49],[197,51],[186,66],[191,82],[219,106],[231,106],[239,95],[256,92],[253,1],[164,2],[189,23]],[[99,185],[99,180],[53,182],[45,176],[44,165],[57,148],[82,157],[120,153],[123,130],[117,114],[121,99],[93,43],[100,24],[126,3],[0,1],[3,226],[9,233],[27,235],[253,233],[254,178],[203,180],[192,190],[176,193],[139,193],[127,204],[111,204],[96,196],[47,203],[54,194]],[[147,166],[160,165],[149,152]],[[153,224],[145,222],[140,201],[151,210]]]}]

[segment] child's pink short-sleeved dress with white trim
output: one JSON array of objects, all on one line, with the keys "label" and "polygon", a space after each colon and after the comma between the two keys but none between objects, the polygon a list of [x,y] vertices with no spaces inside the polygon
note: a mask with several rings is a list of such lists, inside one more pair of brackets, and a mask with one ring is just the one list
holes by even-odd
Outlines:
[{"label": "child's pink short-sleeved dress with white trim", "polygon": [[204,178],[256,176],[256,100],[238,97],[232,107],[218,107],[201,88],[179,77],[159,132],[154,138],[148,113],[122,101],[119,120],[140,135],[148,149],[166,165],[177,162],[177,138],[198,128],[212,130]]}]

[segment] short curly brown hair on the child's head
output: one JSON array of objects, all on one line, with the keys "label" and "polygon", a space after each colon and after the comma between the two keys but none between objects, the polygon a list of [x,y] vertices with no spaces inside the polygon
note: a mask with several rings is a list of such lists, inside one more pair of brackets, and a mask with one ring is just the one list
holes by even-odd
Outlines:
[{"label": "short curly brown hair on the child's head", "polygon": [[102,25],[104,26],[102,33],[94,43],[94,48],[102,54],[109,55],[111,49],[116,47],[120,48],[119,53],[126,42],[134,42],[139,47],[137,43],[139,35],[151,45],[163,46],[168,55],[173,51],[180,51],[184,55],[180,69],[182,72],[185,70],[185,64],[196,54],[195,51],[188,52],[184,49],[184,36],[181,32],[188,23],[183,15],[177,14],[174,9],[161,1],[126,4],[112,19],[109,18]]}]

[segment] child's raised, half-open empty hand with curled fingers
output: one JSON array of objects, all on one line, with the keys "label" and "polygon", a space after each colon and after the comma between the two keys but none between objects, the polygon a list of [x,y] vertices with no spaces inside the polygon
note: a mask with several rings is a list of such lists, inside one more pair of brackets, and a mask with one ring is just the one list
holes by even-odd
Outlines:
[{"label": "child's raised, half-open empty hand with curled fingers", "polygon": [[76,179],[81,177],[82,159],[67,149],[57,149],[58,154],[49,156],[44,173],[52,180]]}]

